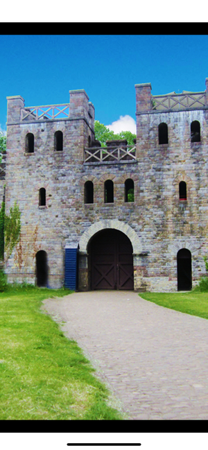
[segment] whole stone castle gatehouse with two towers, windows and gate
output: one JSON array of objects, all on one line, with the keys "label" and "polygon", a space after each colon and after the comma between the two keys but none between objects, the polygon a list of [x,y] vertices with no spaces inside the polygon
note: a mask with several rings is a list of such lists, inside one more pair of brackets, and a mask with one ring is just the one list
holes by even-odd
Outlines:
[{"label": "whole stone castle gatehouse with two towers, windows and gate", "polygon": [[105,148],[84,89],[64,105],[7,97],[6,211],[21,211],[10,282],[174,292],[205,275],[208,78],[203,92],[135,89],[135,145]]}]

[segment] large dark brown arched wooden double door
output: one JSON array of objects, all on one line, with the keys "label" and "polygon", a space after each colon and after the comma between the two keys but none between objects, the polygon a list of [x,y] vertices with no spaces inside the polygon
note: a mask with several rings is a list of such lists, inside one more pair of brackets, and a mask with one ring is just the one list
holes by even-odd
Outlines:
[{"label": "large dark brown arched wooden double door", "polygon": [[92,240],[92,289],[134,288],[132,244],[117,230],[103,230]]}]

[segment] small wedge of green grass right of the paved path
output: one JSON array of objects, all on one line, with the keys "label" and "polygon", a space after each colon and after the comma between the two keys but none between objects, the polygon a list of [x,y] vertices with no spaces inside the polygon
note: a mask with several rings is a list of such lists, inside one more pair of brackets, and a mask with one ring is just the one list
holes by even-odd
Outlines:
[{"label": "small wedge of green grass right of the paved path", "polygon": [[208,319],[208,293],[205,292],[177,292],[177,293],[139,293],[140,297],[182,313],[198,315]]}]

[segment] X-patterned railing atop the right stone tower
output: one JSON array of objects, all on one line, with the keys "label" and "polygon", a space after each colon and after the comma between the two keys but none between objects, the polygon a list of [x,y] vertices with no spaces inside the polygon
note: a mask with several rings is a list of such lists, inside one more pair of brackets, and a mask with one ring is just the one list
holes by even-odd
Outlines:
[{"label": "X-patterned railing atop the right stone tower", "polygon": [[184,110],[206,106],[205,92],[153,96],[153,110]]}]

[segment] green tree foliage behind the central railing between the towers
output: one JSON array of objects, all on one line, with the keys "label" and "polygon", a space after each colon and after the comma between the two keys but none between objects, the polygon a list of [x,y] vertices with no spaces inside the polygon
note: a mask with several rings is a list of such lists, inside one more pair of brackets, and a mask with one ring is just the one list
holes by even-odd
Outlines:
[{"label": "green tree foliage behind the central railing between the towers", "polygon": [[106,141],[112,141],[114,139],[126,139],[128,141],[128,145],[134,144],[133,139],[136,139],[136,135],[133,135],[130,131],[121,131],[118,134],[115,134],[114,131],[109,130],[103,123],[99,121],[94,122],[94,132],[95,139],[101,142],[101,146],[106,146]]}]

